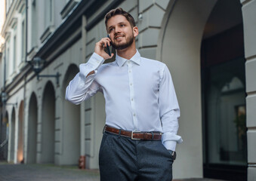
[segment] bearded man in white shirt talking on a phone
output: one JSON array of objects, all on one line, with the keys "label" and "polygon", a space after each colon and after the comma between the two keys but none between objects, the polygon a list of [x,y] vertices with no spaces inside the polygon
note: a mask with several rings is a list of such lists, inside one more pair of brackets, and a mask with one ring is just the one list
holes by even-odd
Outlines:
[{"label": "bearded man in white shirt talking on a phone", "polygon": [[[88,63],[66,87],[66,100],[79,104],[103,92],[106,126],[100,145],[100,180],[172,179],[180,109],[167,66],[140,57],[139,34],[131,14],[116,8],[105,16],[102,38]],[[116,48],[116,61],[103,64],[104,49]]]}]

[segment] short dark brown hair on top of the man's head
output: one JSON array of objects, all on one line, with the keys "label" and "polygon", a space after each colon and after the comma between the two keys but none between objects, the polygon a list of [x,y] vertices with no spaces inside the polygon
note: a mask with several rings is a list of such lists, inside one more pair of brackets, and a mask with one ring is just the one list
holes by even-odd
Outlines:
[{"label": "short dark brown hair on top of the man's head", "polygon": [[134,17],[131,16],[131,14],[129,14],[128,12],[124,11],[122,8],[116,8],[113,10],[110,10],[106,15],[105,15],[105,25],[107,23],[107,21],[111,18],[114,17],[116,15],[122,15],[126,18],[126,20],[128,20],[128,22],[130,23],[131,27],[136,26],[136,23],[134,21]]}]

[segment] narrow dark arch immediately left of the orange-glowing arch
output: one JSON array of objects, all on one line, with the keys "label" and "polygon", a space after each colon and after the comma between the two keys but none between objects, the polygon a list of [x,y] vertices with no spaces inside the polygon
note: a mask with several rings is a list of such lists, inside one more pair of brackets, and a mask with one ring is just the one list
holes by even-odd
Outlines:
[{"label": "narrow dark arch immediately left of the orange-glowing arch", "polygon": [[15,146],[15,127],[16,127],[16,113],[14,107],[11,111],[11,133],[10,133],[10,162],[14,162],[14,146]]}]

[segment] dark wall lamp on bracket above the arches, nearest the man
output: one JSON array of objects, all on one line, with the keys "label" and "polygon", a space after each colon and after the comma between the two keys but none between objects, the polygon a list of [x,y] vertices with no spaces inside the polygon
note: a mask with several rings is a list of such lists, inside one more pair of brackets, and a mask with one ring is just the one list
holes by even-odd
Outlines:
[{"label": "dark wall lamp on bracket above the arches, nearest the man", "polygon": [[56,78],[57,85],[59,85],[59,72],[57,72],[56,75],[39,75],[45,66],[45,60],[43,60],[41,57],[34,57],[31,61],[29,61],[29,63],[37,76],[37,80],[39,80],[40,77],[54,77]]}]

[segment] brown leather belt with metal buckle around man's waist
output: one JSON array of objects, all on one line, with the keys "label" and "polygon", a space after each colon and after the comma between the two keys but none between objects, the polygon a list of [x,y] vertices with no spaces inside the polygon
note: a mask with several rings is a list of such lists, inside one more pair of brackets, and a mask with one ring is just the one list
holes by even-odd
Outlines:
[{"label": "brown leather belt with metal buckle around man's waist", "polygon": [[115,127],[105,126],[103,132],[114,133],[122,137],[129,137],[131,140],[161,140],[161,132],[143,132],[143,131],[130,131],[130,130],[119,130]]}]

